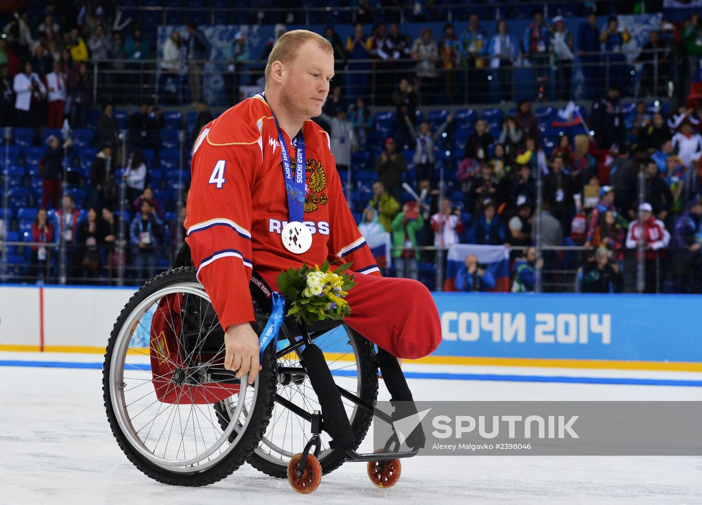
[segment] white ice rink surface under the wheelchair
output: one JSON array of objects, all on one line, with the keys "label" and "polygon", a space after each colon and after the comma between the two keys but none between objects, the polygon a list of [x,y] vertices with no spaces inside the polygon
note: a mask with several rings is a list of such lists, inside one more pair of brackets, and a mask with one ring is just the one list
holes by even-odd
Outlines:
[{"label": "white ice rink surface under the wheelchair", "polygon": [[[79,361],[90,354],[1,353],[0,362]],[[529,376],[701,381],[689,372],[406,365],[408,372],[527,380],[410,379],[416,400],[702,400],[684,385],[538,382]],[[535,379],[536,380],[536,379]],[[701,504],[702,457],[415,457],[381,490],[346,463],[310,495],[248,464],[208,487],[169,487],[140,473],[114,440],[97,369],[0,366],[0,504]],[[682,382],[684,384],[684,382]],[[380,399],[388,399],[381,386]],[[372,437],[362,450],[371,449]]]}]

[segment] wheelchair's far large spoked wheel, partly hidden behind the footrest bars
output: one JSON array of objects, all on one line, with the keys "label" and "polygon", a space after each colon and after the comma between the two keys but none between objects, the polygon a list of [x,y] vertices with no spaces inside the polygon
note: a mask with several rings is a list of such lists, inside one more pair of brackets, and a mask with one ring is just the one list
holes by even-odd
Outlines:
[{"label": "wheelchair's far large spoked wheel, partly hidden behind the footrest bars", "polygon": [[[307,413],[321,410],[310,379],[300,365],[300,356],[297,352],[284,352],[289,342],[294,340],[293,337],[283,326],[279,337],[277,401],[263,439],[248,459],[254,468],[277,478],[288,476],[289,462],[303,450],[312,436],[310,422],[287,408],[280,399],[293,403]],[[376,403],[378,367],[371,342],[344,324],[320,335],[314,339],[314,344],[324,352],[338,386],[371,405]],[[371,426],[373,415],[346,398],[342,397],[342,401],[356,436],[356,443],[360,445]],[[223,426],[231,419],[234,408],[234,403],[228,401],[216,405]],[[326,475],[343,464],[346,454],[342,450],[329,447],[331,437],[326,433],[322,433],[321,438],[317,459],[322,473]]]}]

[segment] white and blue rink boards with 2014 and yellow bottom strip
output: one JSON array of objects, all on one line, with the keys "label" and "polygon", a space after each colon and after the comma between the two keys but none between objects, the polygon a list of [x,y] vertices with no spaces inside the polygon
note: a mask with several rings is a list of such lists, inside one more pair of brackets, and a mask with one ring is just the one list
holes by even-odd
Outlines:
[{"label": "white and blue rink boards with 2014 and yellow bottom strip", "polygon": [[[1,286],[0,351],[103,352],[133,292]],[[702,296],[434,297],[442,343],[425,363],[702,370]]]}]

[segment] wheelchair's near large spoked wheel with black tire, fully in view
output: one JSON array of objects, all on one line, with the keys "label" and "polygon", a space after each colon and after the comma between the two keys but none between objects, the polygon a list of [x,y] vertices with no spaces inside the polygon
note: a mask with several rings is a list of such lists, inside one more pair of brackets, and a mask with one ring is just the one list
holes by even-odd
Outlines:
[{"label": "wheelchair's near large spoked wheel with black tire, fully in view", "polygon": [[[178,310],[168,302],[174,299]],[[254,309],[262,318],[255,302]],[[272,416],[274,349],[269,346],[249,386],[247,377],[223,369],[223,332],[213,314],[194,269],[173,269],[131,297],[107,344],[102,391],[112,433],[128,459],[162,483],[201,486],[230,475],[258,447]],[[177,335],[176,349],[152,344],[152,321]],[[154,375],[154,353],[175,371]],[[237,422],[218,418],[213,396],[226,397]]]}]

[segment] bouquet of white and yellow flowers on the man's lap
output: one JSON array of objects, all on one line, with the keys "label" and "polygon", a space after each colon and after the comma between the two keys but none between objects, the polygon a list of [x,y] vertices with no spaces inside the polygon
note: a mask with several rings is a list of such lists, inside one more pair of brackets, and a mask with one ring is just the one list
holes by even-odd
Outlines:
[{"label": "bouquet of white and yellow flowers on the man's lap", "polygon": [[278,274],[278,289],[289,302],[286,315],[295,316],[298,323],[314,323],[324,319],[338,321],[351,314],[344,298],[357,283],[344,273],[349,267],[351,263],[344,263],[331,271],[326,261],[322,267],[303,265]]}]

